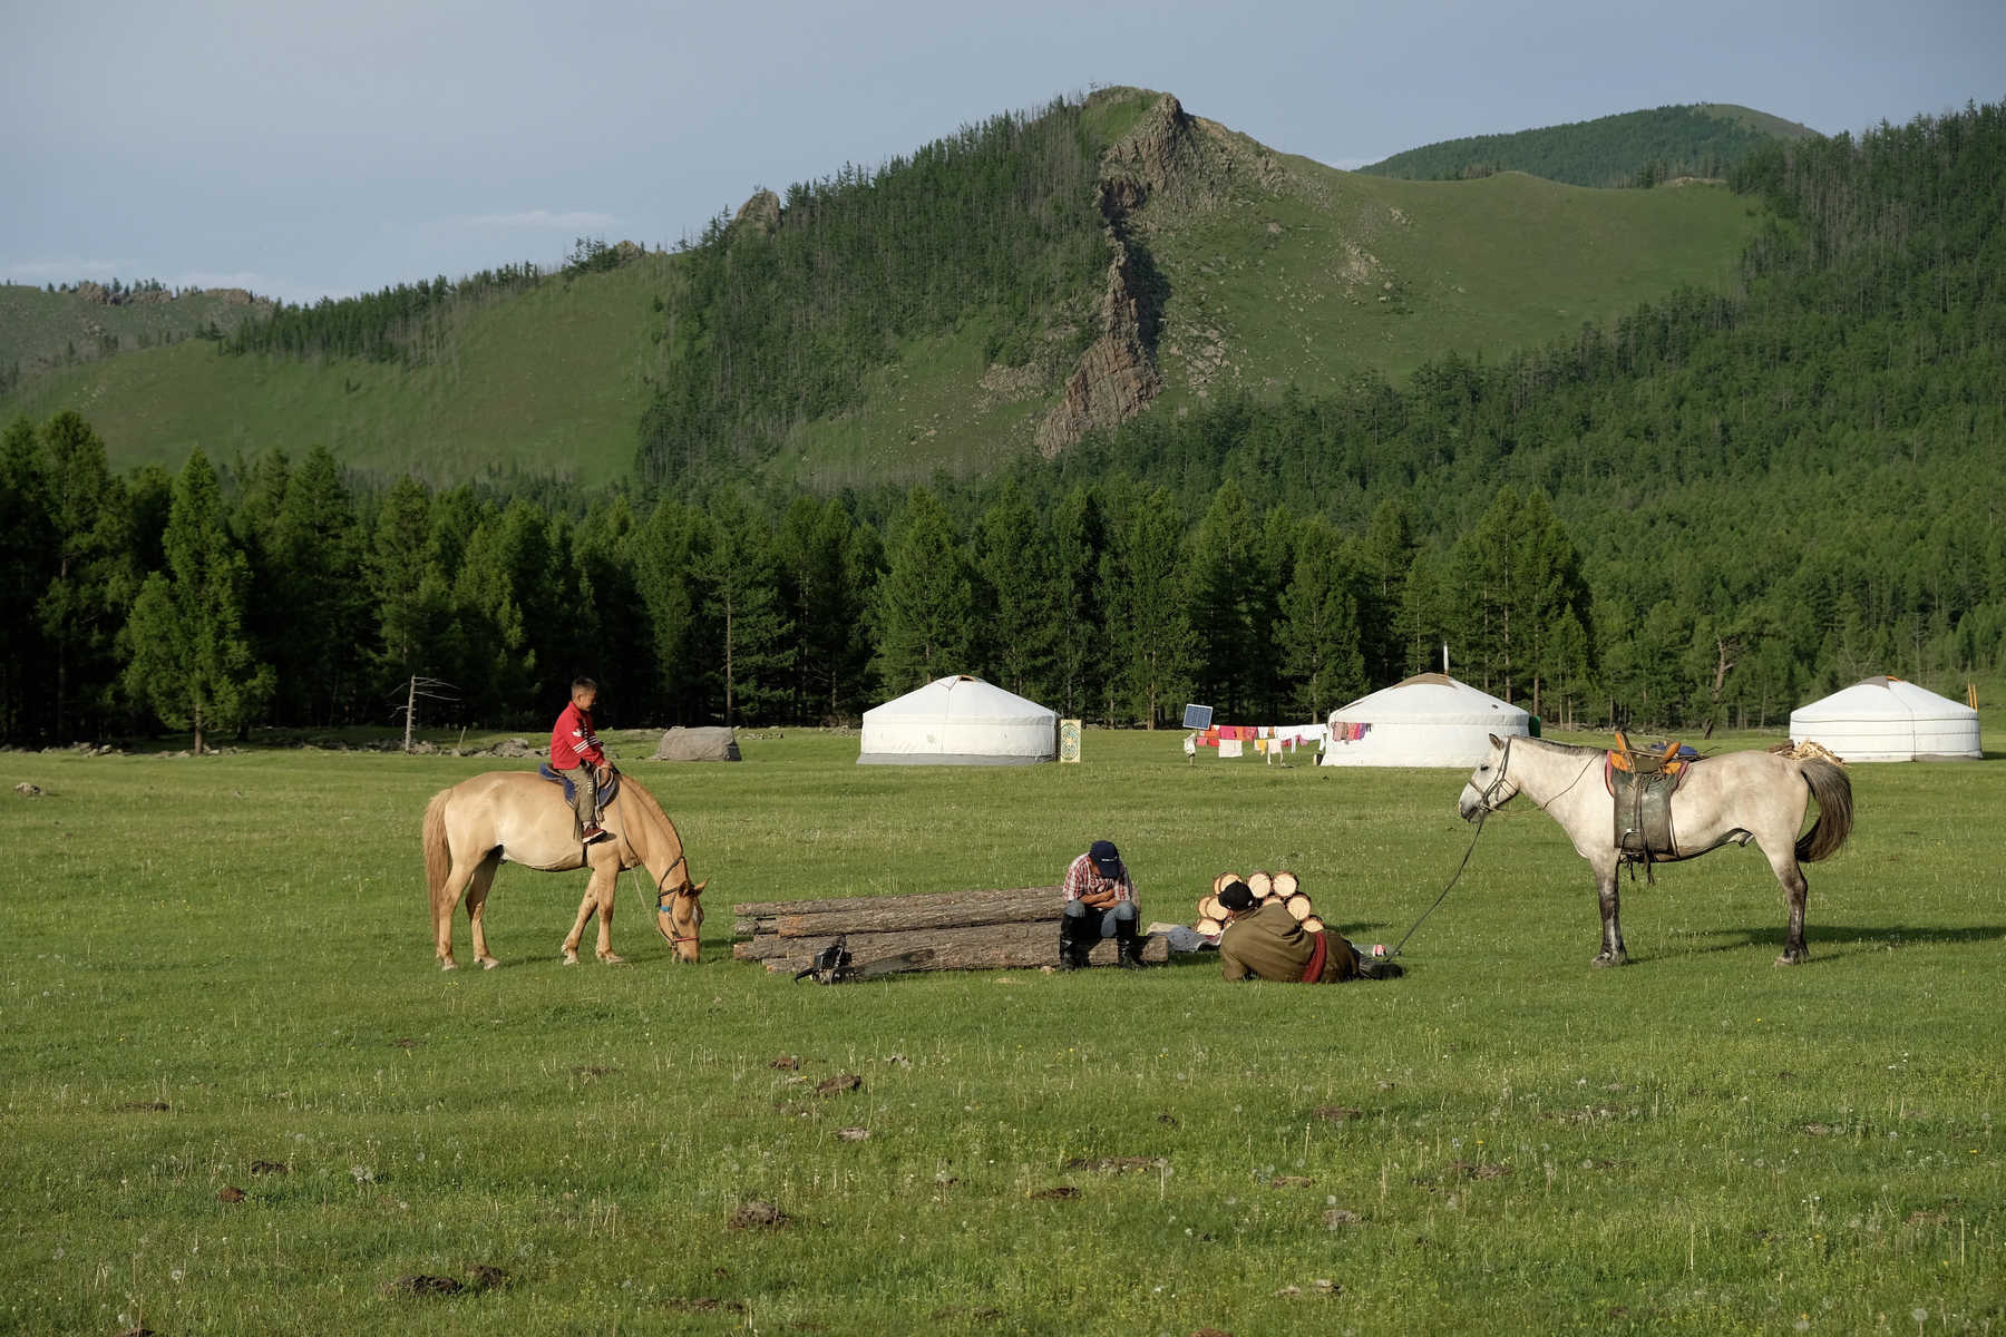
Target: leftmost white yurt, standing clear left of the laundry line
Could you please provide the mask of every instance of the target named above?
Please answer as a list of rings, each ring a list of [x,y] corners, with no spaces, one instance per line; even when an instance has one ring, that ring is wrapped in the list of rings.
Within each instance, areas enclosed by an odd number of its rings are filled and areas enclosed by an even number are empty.
[[[859,766],[1029,766],[1059,756],[1059,716],[967,674],[865,712]]]

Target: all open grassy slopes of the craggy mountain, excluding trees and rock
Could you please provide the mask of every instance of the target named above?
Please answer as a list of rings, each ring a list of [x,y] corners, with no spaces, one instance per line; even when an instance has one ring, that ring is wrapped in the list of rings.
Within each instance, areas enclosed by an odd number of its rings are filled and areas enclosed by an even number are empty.
[[[1141,90],[1095,94],[1073,108],[1083,150],[1119,142],[1157,104],[1159,94]],[[1356,373],[1398,377],[1444,351],[1496,357],[1681,285],[1723,289],[1755,229],[1749,200],[1719,186],[1611,192],[1525,174],[1390,180],[1196,124],[1242,168],[1260,170],[1186,180],[1184,194],[1202,204],[1159,190],[1135,214],[1161,315],[1155,413],[1226,389],[1278,397],[1288,385],[1330,391]],[[913,158],[943,198],[969,182],[965,142],[943,140],[945,148]],[[1025,216],[1045,227],[1077,212],[1079,182],[1093,170],[1089,156],[1085,176],[1029,174],[1051,194],[1027,198]],[[913,180],[897,184],[911,198]],[[891,188],[841,182],[847,200]],[[790,190],[782,237],[802,220],[814,227],[802,200],[820,198]],[[855,212],[869,208],[863,198]],[[865,235],[883,249],[883,231]],[[1107,263],[1101,253],[1083,265],[1073,241],[1051,245],[1061,251],[1039,253],[1051,277],[1035,303],[969,297],[939,311],[943,287],[933,283],[925,301],[935,307],[909,329],[859,329],[845,301],[776,287],[798,311],[780,311],[768,327],[816,319],[816,301],[832,307],[816,335],[822,343],[792,341],[788,357],[816,361],[820,349],[822,363],[843,365],[845,383],[814,387],[806,407],[766,409],[762,443],[736,463],[830,489],[935,469],[967,477],[1029,451],[1081,341],[1097,329]],[[225,357],[191,343],[36,377],[0,399],[0,415],[40,419],[74,407],[104,435],[116,465],[179,463],[195,445],[231,459],[321,443],[357,467],[439,481],[512,469],[604,481],[634,467],[642,413],[658,403],[670,359],[716,337],[714,325],[688,315],[718,311],[690,305],[694,263],[646,257],[467,309],[415,367]],[[871,271],[853,281],[867,287]],[[742,385],[746,373],[738,375]],[[698,423],[690,435],[706,431]]]

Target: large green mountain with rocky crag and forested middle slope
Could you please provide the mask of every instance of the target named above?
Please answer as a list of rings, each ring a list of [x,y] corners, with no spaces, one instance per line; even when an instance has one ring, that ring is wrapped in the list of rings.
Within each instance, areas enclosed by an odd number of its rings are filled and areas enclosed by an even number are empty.
[[[86,409],[116,465],[319,443],[437,481],[965,477],[1725,291],[1757,212],[1713,184],[1348,174],[1113,88],[756,192],[678,255],[283,307],[26,379],[0,413]]]

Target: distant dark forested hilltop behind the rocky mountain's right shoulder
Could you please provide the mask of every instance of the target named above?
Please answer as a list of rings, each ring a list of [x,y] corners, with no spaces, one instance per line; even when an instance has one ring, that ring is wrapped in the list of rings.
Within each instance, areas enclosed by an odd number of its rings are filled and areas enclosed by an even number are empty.
[[[1649,186],[1727,174],[1753,148],[1817,134],[1731,102],[1659,106],[1599,120],[1476,134],[1396,152],[1360,168],[1404,180],[1468,180],[1492,172],[1529,172],[1575,186]]]

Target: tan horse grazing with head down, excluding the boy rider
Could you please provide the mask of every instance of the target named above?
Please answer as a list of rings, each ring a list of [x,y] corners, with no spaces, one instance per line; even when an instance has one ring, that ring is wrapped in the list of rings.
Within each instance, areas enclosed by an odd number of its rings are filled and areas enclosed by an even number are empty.
[[[578,940],[592,912],[600,914],[600,960],[614,966],[614,886],[628,868],[654,876],[656,928],[676,948],[678,962],[698,958],[704,882],[690,880],[676,824],[632,776],[600,814],[610,840],[580,846],[572,806],[558,786],[532,772],[491,770],[439,790],[425,806],[425,884],[431,890],[431,926],[437,934],[439,970],[453,970],[453,906],[467,898],[473,920],[473,960],[493,970],[481,912],[501,860],[542,872],[592,868],[592,882],[578,906],[578,922],[564,938],[564,964],[578,964]]]

